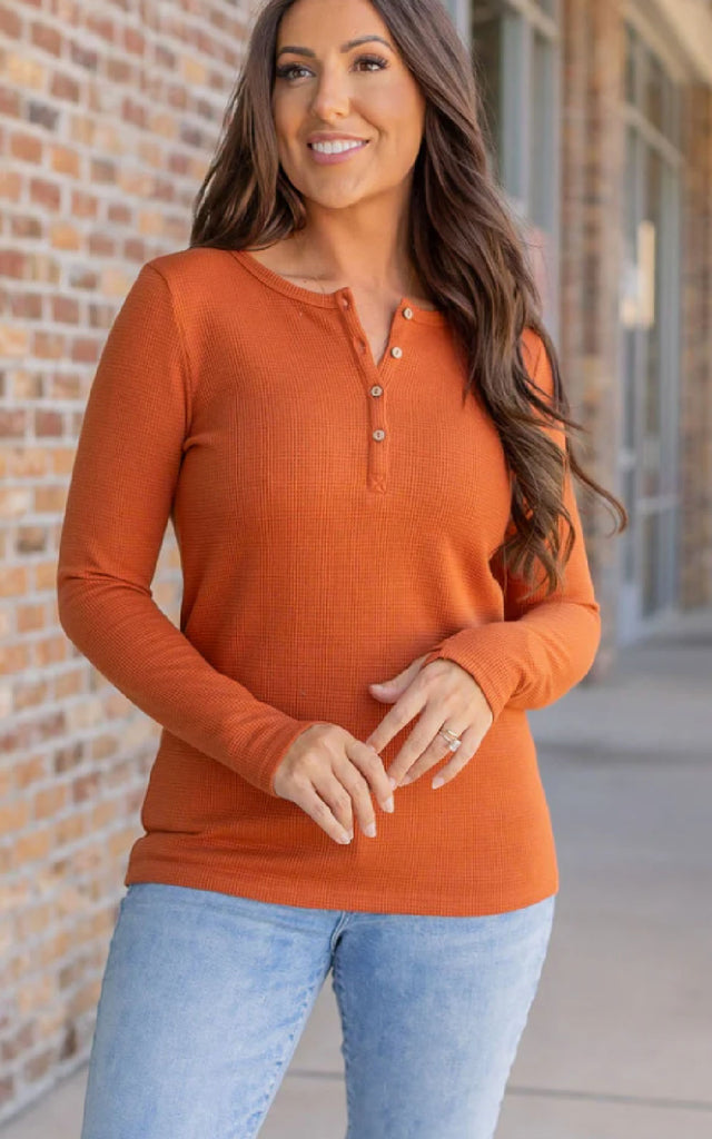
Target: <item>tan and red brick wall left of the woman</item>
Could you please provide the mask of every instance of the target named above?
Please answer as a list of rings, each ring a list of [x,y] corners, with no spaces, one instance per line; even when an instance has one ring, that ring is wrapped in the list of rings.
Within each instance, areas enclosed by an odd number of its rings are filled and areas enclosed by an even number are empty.
[[[141,264],[188,244],[249,18],[0,0],[0,1122],[88,1057],[158,732],[58,623],[75,441]],[[178,621],[170,530],[154,596]]]

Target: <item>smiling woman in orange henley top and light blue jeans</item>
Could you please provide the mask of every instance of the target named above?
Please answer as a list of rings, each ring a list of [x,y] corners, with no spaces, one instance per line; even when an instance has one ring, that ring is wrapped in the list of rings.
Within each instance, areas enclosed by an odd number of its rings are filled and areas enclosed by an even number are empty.
[[[558,888],[526,708],[599,642],[572,473],[624,511],[480,114],[435,0],[271,0],[111,329],[60,618],[163,730],[82,1139],[257,1134],[329,970],[350,1139],[494,1132]]]

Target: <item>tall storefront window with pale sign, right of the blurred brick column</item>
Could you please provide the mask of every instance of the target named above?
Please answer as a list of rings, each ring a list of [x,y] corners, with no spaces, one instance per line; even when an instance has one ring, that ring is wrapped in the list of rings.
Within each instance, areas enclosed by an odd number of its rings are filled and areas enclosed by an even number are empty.
[[[620,472],[630,526],[620,617],[630,639],[677,597],[681,159],[678,87],[631,26],[625,44]]]

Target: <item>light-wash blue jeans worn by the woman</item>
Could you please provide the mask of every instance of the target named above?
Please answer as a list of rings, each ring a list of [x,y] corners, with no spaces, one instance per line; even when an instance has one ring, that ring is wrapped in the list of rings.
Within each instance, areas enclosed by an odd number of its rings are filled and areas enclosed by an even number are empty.
[[[491,1139],[555,898],[437,917],[131,884],[81,1139],[253,1139],[329,970],[346,1139]]]

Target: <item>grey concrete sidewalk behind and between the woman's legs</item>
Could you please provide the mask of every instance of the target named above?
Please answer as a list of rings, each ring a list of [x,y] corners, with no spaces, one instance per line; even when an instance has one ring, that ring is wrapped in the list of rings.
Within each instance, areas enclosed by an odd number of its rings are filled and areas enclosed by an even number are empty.
[[[712,611],[530,722],[560,891],[497,1139],[710,1139]],[[261,1139],[343,1139],[339,1040],[328,980]],[[85,1075],[0,1139],[79,1139]]]

